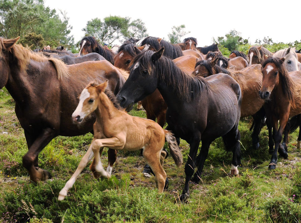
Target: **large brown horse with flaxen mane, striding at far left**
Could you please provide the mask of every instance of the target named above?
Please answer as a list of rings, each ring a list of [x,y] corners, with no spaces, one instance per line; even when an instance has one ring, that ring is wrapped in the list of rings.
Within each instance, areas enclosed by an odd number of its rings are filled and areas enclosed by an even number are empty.
[[[56,136],[76,136],[93,131],[95,114],[81,126],[72,122],[82,89],[95,78],[108,81],[115,94],[125,79],[108,61],[87,61],[65,65],[61,60],[33,53],[12,40],[0,38],[0,88],[4,86],[15,100],[15,113],[24,129],[28,152],[23,166],[30,180],[46,180],[49,172],[38,167],[40,151]],[[116,151],[108,150],[109,166]]]

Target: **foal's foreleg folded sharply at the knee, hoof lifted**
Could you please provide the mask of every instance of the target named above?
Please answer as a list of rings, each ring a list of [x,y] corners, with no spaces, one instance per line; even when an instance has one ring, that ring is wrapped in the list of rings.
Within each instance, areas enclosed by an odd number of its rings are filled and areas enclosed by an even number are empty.
[[[125,142],[125,140],[124,140]],[[96,139],[92,142],[92,151],[94,152],[94,162],[95,162],[95,171],[98,172],[101,176],[110,178],[111,174],[107,173],[103,169],[103,165],[100,159],[100,148],[110,147],[116,149],[122,149],[124,147],[124,142],[121,142],[119,138],[112,137],[108,139]]]

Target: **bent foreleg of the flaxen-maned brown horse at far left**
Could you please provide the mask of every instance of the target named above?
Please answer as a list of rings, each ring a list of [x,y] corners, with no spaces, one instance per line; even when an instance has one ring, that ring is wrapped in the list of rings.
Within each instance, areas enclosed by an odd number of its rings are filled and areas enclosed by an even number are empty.
[[[23,166],[27,169],[30,180],[34,183],[37,180],[47,180],[50,173],[44,169],[36,169],[34,164],[37,164],[37,157],[42,149],[56,136],[56,133],[50,129],[43,129],[40,135],[34,140],[28,152],[23,157]]]

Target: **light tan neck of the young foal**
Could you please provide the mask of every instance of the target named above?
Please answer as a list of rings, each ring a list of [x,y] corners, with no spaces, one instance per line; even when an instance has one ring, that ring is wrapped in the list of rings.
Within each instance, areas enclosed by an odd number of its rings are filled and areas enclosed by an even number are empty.
[[[98,100],[98,106],[95,110],[95,114],[97,121],[102,125],[105,125],[107,121],[115,117],[114,114],[118,111],[118,109],[114,107],[114,104],[105,93],[100,93]]]

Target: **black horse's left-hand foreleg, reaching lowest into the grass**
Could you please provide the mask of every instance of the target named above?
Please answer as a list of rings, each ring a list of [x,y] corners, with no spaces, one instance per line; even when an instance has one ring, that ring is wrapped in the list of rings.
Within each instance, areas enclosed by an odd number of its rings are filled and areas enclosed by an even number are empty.
[[[189,197],[189,181],[194,173],[194,167],[195,167],[194,161],[198,152],[198,146],[200,145],[200,138],[201,137],[193,138],[190,143],[189,155],[188,155],[187,162],[185,164],[185,174],[186,174],[185,185],[182,194],[180,196],[180,200],[182,202],[187,201]]]

